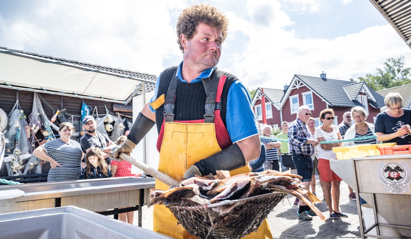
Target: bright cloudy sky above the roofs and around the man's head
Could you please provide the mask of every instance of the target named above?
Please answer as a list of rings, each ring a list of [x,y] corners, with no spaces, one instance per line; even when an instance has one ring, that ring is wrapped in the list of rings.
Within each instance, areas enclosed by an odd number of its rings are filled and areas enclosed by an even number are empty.
[[[158,75],[177,65],[178,14],[195,1],[0,0],[0,47]],[[294,74],[348,80],[411,49],[368,0],[210,1],[230,20],[220,69],[249,88]]]

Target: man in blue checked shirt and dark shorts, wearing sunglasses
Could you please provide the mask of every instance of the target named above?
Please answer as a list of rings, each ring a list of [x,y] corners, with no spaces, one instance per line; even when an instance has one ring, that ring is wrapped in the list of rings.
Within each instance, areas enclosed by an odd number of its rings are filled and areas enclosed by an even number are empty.
[[[311,156],[314,154],[314,146],[319,142],[312,138],[308,130],[307,122],[311,117],[311,110],[308,106],[298,108],[297,119],[290,124],[288,139],[290,141],[290,151],[298,175],[302,176],[302,184],[309,190],[312,178],[313,163]],[[297,215],[302,220],[312,221],[314,211],[307,204],[300,200],[300,207]]]

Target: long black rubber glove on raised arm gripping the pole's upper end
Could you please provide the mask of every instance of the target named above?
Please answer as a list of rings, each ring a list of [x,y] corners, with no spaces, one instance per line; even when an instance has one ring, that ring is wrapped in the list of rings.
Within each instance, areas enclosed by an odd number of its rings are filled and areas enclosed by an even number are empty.
[[[154,125],[154,121],[145,117],[140,112],[139,115],[137,115],[136,121],[134,122],[129,135],[127,136],[127,140],[111,149],[110,158],[117,161],[122,161],[122,159],[118,158],[118,154],[123,152],[129,155]]]

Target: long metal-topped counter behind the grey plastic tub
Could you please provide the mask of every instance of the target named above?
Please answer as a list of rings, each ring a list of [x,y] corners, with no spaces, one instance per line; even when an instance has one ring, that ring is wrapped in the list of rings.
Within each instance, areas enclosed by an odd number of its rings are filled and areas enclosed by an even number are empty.
[[[148,202],[149,188],[155,186],[152,177],[117,177],[0,186],[0,194],[18,189],[24,195],[0,200],[0,214],[42,208],[75,206],[103,215],[136,211]],[[134,206],[128,209],[120,207]],[[115,209],[105,211],[109,209]],[[139,210],[141,225],[141,210]]]

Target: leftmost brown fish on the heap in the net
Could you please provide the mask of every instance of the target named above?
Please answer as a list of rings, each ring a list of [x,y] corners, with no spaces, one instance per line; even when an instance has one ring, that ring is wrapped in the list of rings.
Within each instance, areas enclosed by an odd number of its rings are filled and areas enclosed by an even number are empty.
[[[198,185],[190,184],[171,188],[157,197],[154,197],[152,193],[150,195],[152,195],[152,199],[150,199],[150,202],[147,204],[148,207],[154,204],[178,206],[181,204],[182,198],[191,198],[194,195],[200,195],[200,189]]]

